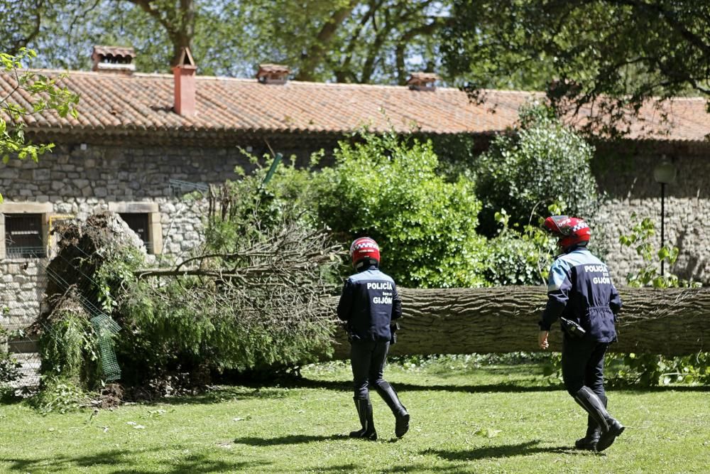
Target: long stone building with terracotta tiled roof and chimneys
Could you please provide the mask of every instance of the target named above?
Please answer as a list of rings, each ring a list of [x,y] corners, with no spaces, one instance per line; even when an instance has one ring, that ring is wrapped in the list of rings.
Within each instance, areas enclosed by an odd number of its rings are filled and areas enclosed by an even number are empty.
[[[242,150],[306,158],[331,150],[361,126],[372,131],[471,134],[484,139],[515,124],[532,95],[487,91],[474,103],[457,89],[436,87],[434,75],[413,74],[405,87],[323,84],[288,80],[288,68],[262,65],[256,79],[195,74],[189,53],[173,75],[134,72],[130,48],[94,48],[94,70],[62,81],[81,95],[78,119],[53,112],[26,118],[33,141],[53,142],[53,153],[33,161],[0,163],[0,306],[4,326],[21,327],[38,314],[49,230],[94,210],[119,212],[149,253],[179,255],[201,239],[200,200],[183,193],[236,178],[249,168]],[[58,75],[60,71],[41,71]],[[15,86],[0,72],[0,92]],[[28,97],[12,96],[21,104]],[[597,146],[596,175],[608,200],[600,210],[607,257],[616,278],[638,266],[633,249],[616,244],[630,215],[660,217],[654,167],[672,161],[678,176],[667,185],[665,239],[681,248],[672,269],[710,279],[710,115],[704,100],[676,99],[641,111],[619,144]],[[665,115],[663,114],[663,115]]]

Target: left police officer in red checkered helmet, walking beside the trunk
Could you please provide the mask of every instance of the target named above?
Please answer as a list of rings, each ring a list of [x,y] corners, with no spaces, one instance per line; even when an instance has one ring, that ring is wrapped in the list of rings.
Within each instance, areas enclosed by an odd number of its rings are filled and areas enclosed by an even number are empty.
[[[395,435],[400,438],[409,429],[409,413],[382,372],[393,339],[393,321],[402,316],[402,301],[394,280],[378,269],[377,242],[370,237],[356,239],[350,246],[350,257],[356,274],[345,281],[337,309],[351,343],[354,401],[361,424],[350,437],[377,439],[368,390],[375,387],[395,416]]]

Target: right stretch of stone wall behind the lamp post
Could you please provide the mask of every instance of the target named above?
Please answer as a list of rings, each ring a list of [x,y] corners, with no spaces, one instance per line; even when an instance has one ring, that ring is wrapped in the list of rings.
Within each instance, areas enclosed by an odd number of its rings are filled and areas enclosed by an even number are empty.
[[[606,198],[596,218],[596,233],[608,252],[606,260],[619,284],[630,271],[643,266],[631,247],[618,236],[644,217],[655,222],[653,244],[660,247],[661,185],[653,169],[664,158],[677,169],[676,181],[665,186],[665,244],[679,247],[677,262],[665,271],[684,279],[710,283],[710,144],[623,144],[597,146],[594,164],[599,188]],[[635,213],[638,217],[633,219]]]

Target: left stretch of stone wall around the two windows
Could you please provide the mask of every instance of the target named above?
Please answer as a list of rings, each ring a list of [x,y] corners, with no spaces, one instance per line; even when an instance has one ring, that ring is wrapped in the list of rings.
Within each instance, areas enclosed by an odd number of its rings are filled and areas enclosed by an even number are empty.
[[[157,203],[163,235],[155,253],[179,257],[201,242],[206,201],[182,200],[187,190],[171,188],[170,180],[223,183],[236,178],[234,167],[238,165],[247,171],[253,167],[236,147],[58,146],[37,163],[11,160],[0,165],[5,199],[0,208],[48,203],[45,216],[49,223],[59,216],[85,220],[116,203]],[[4,327],[20,328],[38,316],[47,262],[0,259],[0,308],[7,308],[0,321]]]

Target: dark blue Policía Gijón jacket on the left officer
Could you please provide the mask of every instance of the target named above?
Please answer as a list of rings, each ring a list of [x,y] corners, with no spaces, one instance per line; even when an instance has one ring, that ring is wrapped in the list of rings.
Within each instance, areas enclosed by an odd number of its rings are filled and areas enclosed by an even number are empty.
[[[352,341],[390,340],[390,323],[402,316],[402,300],[392,277],[371,265],[345,281],[337,311]]]

